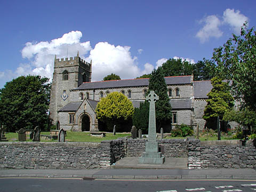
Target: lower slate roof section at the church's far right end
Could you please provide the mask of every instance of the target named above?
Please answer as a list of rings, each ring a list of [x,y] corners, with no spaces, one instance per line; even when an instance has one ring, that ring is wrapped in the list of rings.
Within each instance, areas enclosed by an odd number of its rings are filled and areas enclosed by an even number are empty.
[[[211,81],[195,81],[194,97],[195,99],[208,98],[207,93],[212,90]]]

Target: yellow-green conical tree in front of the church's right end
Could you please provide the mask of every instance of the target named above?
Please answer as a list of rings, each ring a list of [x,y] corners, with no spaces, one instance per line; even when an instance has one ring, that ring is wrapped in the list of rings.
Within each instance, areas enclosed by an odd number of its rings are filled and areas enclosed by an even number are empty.
[[[234,107],[234,98],[230,93],[230,87],[227,82],[223,82],[219,77],[211,79],[212,90],[207,94],[207,105],[204,109],[203,118],[206,120],[206,126],[209,129],[216,129],[217,117],[222,120],[223,115]],[[222,124],[222,129],[224,122]]]

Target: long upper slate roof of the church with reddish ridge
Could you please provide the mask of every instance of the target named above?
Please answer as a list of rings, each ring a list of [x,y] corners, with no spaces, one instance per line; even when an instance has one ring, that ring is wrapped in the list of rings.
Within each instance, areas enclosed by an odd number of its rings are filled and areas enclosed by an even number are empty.
[[[167,85],[190,84],[191,76],[165,77]],[[114,81],[87,82],[81,84],[74,90],[107,89],[115,87],[148,86],[149,78],[124,79]]]

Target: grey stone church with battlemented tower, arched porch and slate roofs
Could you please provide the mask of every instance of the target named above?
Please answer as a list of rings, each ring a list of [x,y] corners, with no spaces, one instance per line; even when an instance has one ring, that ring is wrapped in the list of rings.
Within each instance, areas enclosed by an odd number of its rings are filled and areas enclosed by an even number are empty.
[[[91,82],[92,61],[79,57],[54,59],[50,118],[64,130],[98,132],[97,103],[111,92],[121,92],[139,107],[145,101],[149,79]],[[165,77],[172,106],[170,127],[187,124],[204,129],[202,118],[211,81],[194,81],[191,76]]]

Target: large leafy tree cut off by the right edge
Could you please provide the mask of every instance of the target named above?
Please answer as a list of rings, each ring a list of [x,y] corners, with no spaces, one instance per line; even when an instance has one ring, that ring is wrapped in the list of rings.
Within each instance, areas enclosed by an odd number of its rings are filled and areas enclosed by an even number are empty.
[[[256,111],[256,31],[241,28],[241,36],[232,38],[215,48],[212,60],[222,78],[232,80],[231,91],[242,107],[249,106]],[[215,71],[213,71],[215,73]]]

